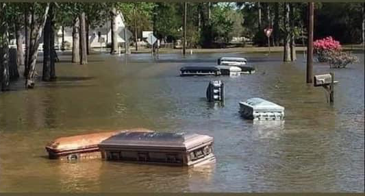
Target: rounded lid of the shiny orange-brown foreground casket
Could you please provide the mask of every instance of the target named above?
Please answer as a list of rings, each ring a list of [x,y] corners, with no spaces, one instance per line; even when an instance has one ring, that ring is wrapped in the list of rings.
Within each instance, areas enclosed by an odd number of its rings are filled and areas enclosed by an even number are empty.
[[[66,136],[53,140],[46,146],[47,150],[54,152],[69,151],[76,149],[87,149],[91,147],[97,147],[101,141],[119,134],[121,132],[153,132],[144,128],[136,128],[130,130],[117,130],[112,132],[100,132],[92,134],[82,134],[77,136]]]

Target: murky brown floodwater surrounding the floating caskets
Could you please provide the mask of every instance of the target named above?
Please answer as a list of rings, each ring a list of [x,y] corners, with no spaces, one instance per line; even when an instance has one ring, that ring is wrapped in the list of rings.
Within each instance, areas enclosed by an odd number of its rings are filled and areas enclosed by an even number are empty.
[[[181,66],[244,56],[257,69],[240,77],[179,77]],[[305,84],[305,62],[280,53],[92,54],[89,64],[60,53],[57,82],[24,81],[0,93],[1,192],[363,192],[364,56],[334,71],[335,103]],[[41,75],[41,68],[38,68]],[[212,79],[225,83],[224,105],[205,100]],[[239,101],[262,97],[285,107],[285,121],[242,119]],[[101,160],[47,159],[53,138],[145,127],[214,136],[216,163],[192,169]]]

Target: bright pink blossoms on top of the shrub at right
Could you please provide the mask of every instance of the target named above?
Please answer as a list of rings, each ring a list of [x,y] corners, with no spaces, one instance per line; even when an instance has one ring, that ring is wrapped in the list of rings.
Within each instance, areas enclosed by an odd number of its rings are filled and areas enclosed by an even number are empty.
[[[342,49],[340,42],[333,40],[331,36],[314,41],[313,47],[319,62],[327,62],[326,54],[329,51],[340,51]]]

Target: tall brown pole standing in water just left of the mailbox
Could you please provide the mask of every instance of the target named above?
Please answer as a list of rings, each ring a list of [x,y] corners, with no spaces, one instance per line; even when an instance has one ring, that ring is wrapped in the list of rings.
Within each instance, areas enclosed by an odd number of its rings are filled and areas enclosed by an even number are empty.
[[[313,82],[314,3],[308,3],[307,83]]]

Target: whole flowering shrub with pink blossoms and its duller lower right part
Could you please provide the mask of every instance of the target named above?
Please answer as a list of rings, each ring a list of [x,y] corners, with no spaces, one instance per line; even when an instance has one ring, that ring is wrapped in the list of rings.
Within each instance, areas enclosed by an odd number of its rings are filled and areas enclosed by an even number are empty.
[[[328,62],[331,68],[344,68],[348,64],[357,62],[357,57],[343,52],[340,42],[331,36],[313,42],[314,52],[318,62]]]

